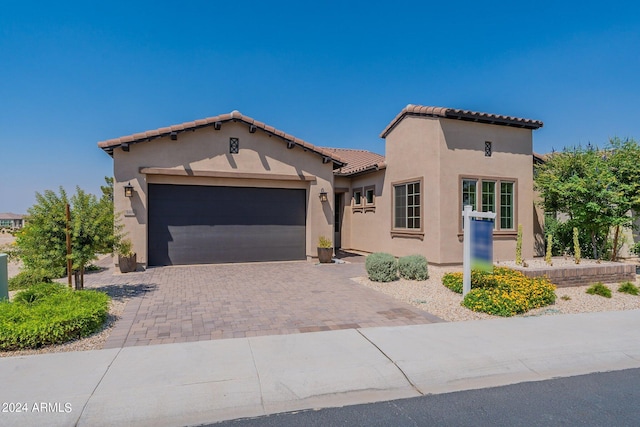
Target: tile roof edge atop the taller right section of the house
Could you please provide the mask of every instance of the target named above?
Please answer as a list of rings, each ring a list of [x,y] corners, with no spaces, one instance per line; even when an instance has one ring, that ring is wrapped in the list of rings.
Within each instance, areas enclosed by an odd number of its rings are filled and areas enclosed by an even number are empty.
[[[525,129],[538,129],[543,126],[539,120],[522,119],[519,117],[501,116],[498,114],[479,113],[477,111],[457,110],[445,107],[427,107],[423,105],[409,104],[400,111],[395,119],[387,125],[380,134],[380,138],[386,138],[389,132],[407,116],[442,117],[445,119],[465,120],[478,123],[486,123],[501,126],[513,126]]]

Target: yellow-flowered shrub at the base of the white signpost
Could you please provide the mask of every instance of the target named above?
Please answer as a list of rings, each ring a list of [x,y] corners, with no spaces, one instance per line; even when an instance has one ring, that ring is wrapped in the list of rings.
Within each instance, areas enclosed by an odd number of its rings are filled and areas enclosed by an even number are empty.
[[[448,273],[442,284],[462,293],[462,273]],[[471,291],[462,305],[498,316],[513,316],[556,301],[555,286],[546,277],[528,278],[509,268],[495,267],[493,273],[471,271]]]

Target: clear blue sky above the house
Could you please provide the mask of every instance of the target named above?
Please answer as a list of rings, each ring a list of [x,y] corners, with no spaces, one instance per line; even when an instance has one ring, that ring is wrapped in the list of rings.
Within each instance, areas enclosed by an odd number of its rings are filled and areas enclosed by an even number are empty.
[[[0,6],[0,212],[99,193],[98,141],[236,109],[382,154],[409,103],[542,120],[541,153],[640,139],[637,2],[93,3]]]

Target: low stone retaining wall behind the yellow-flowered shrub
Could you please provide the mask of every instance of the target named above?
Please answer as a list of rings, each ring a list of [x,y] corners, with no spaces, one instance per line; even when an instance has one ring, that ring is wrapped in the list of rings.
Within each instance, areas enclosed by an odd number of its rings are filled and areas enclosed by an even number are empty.
[[[619,262],[574,265],[549,268],[511,267],[527,277],[547,276],[559,288],[592,285],[597,282],[621,283],[636,281],[636,266]]]

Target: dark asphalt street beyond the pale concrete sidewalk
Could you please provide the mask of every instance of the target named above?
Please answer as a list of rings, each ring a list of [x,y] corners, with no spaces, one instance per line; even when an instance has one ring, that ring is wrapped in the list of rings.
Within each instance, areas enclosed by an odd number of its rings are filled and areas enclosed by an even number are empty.
[[[628,369],[211,426],[638,426],[638,384]]]

